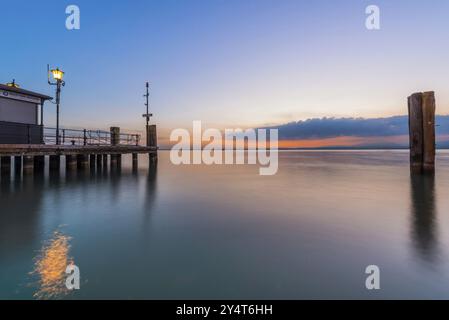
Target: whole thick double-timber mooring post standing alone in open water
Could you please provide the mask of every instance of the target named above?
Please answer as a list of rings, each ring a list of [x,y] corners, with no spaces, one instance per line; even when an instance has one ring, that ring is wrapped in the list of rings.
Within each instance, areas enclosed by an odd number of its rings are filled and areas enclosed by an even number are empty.
[[[435,94],[414,93],[408,98],[410,166],[413,172],[435,169]]]

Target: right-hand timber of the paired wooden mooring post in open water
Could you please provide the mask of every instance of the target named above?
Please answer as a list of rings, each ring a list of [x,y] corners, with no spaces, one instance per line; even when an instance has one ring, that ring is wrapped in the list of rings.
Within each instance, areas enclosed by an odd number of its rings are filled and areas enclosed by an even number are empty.
[[[424,92],[423,108],[423,169],[435,169],[435,93]]]

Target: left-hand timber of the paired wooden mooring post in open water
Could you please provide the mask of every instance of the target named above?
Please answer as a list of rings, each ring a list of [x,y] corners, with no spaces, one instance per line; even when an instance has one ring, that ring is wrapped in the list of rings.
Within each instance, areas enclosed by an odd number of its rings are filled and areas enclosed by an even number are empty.
[[[423,165],[423,112],[422,93],[414,93],[408,98],[410,164],[421,168]]]

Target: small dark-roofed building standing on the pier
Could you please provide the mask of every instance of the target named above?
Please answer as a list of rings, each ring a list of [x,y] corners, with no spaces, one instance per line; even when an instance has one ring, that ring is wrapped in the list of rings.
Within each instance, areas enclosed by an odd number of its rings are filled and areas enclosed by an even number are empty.
[[[0,144],[43,143],[43,106],[51,99],[15,82],[0,84]]]

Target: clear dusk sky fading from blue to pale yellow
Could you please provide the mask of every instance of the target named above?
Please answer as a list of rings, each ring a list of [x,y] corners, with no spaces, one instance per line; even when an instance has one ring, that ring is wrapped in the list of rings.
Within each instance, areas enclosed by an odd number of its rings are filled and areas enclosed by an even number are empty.
[[[435,91],[437,113],[449,114],[446,0],[0,3],[0,82],[53,95],[46,65],[63,69],[67,127],[143,131],[146,81],[162,141],[193,120],[247,128],[405,115],[416,91]],[[70,4],[80,7],[80,30],[65,28]],[[365,28],[370,4],[381,30]]]

